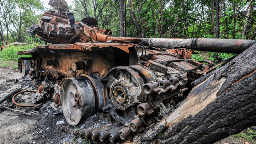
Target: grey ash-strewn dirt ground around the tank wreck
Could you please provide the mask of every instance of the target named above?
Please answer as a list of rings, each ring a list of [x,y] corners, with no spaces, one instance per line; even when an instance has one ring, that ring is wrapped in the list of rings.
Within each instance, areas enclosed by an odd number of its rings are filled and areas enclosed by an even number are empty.
[[[17,80],[18,81],[17,81]],[[16,81],[16,82],[15,82]],[[17,70],[11,68],[0,67],[0,99],[10,92],[22,87],[23,90],[37,90],[41,81],[31,80],[28,76],[23,76]],[[22,91],[23,91],[22,90]],[[30,99],[31,93],[20,95],[18,103],[32,105]],[[19,97],[19,96],[17,96]],[[12,107],[11,98],[7,99],[3,106]],[[91,143],[89,140],[73,138],[72,134],[61,132],[60,128],[65,126],[72,130],[76,128],[95,129],[109,124],[106,120],[100,119],[100,114],[86,119],[78,126],[70,126],[64,118],[62,110],[55,110],[49,106],[50,102],[45,102],[40,107],[20,107],[14,105],[12,108],[33,116],[27,116],[20,112],[14,112],[0,108],[0,144],[73,144],[73,143]],[[106,116],[105,116],[106,117]],[[234,136],[225,138],[217,144],[244,144],[244,140],[240,140]]]

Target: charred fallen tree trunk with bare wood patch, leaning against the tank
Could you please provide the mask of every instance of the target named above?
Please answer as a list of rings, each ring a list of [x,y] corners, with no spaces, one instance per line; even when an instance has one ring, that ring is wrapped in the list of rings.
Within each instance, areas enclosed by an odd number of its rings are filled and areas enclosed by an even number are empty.
[[[186,100],[137,143],[214,143],[256,125],[256,44],[198,79]],[[201,80],[201,81],[200,81]]]

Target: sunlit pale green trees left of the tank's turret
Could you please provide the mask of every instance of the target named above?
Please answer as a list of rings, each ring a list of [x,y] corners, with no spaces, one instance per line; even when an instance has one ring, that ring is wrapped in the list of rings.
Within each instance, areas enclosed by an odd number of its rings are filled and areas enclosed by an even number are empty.
[[[40,0],[0,1],[0,44],[11,42],[42,43],[30,38],[26,30],[38,23],[44,7]],[[32,40],[32,41],[31,41]]]

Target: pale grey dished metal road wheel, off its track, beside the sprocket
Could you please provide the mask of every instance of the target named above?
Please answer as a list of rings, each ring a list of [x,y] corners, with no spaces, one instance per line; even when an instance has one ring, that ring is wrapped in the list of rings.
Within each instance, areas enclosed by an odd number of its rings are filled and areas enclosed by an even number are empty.
[[[78,76],[68,78],[63,82],[62,107],[69,124],[76,126],[102,107],[102,102],[99,102],[103,99],[102,84],[97,79],[100,78]],[[95,82],[98,83],[95,84]]]

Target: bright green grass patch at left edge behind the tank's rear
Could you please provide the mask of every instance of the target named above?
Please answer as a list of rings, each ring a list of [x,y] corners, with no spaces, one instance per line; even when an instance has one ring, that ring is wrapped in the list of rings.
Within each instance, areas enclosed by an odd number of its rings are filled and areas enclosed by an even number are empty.
[[[11,45],[4,48],[0,52],[0,67],[12,67],[18,69],[17,61],[18,57],[31,57],[31,55],[17,55],[18,51],[28,50],[35,47],[35,45]]]

